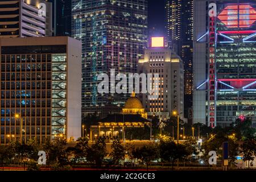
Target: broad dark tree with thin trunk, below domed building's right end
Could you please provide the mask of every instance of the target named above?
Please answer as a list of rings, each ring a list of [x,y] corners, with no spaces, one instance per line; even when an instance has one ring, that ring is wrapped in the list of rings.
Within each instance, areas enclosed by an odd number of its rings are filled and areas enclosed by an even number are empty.
[[[158,159],[159,152],[158,147],[154,143],[146,144],[142,148],[135,148],[132,151],[132,155],[146,163],[147,169],[150,166],[152,160]]]

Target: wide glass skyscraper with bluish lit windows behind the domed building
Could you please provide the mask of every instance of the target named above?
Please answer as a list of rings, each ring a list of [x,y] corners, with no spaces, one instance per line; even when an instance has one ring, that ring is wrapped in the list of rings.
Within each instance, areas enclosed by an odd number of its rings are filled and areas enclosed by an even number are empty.
[[[147,0],[72,0],[72,36],[82,41],[83,116],[119,113],[130,94],[98,94],[97,75],[137,72],[147,46]]]

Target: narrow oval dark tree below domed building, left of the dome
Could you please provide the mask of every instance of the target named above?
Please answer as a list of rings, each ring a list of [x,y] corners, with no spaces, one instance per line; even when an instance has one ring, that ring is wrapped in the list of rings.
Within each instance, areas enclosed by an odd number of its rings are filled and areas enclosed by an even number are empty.
[[[121,160],[125,159],[125,147],[122,146],[120,140],[114,140],[112,143],[113,151],[110,156],[112,156],[112,162],[114,165],[118,165]]]

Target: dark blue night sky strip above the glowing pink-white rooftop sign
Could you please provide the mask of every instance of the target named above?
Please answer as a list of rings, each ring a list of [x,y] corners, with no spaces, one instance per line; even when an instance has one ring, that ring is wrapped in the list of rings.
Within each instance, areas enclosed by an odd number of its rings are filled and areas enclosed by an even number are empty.
[[[165,13],[164,0],[148,0],[148,30],[149,36],[163,36],[165,35]],[[152,31],[152,28],[155,31]]]

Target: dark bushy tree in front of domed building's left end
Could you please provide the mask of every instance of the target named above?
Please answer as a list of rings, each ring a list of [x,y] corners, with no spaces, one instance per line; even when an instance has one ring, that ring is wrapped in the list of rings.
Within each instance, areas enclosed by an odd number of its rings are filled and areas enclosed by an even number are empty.
[[[106,154],[105,139],[98,138],[96,143],[86,149],[86,160],[90,163],[96,164],[97,167],[101,167]]]

